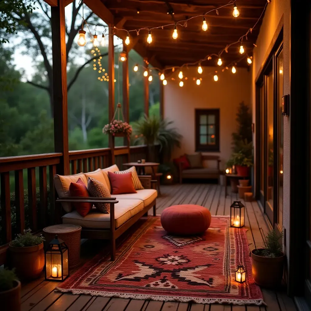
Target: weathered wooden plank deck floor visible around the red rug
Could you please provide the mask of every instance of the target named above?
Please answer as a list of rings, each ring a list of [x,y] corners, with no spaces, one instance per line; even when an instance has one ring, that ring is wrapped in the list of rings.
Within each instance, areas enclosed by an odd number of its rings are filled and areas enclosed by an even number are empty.
[[[230,204],[237,199],[235,193],[225,197],[224,186],[216,184],[182,184],[161,186],[161,197],[157,199],[157,213],[174,204],[199,204],[207,207],[212,215],[230,215]],[[245,203],[245,225],[249,228],[249,248],[263,245],[262,231],[266,234],[268,226],[256,202]],[[151,213],[151,211],[150,211]],[[90,242],[92,243],[92,242]],[[82,245],[81,264],[94,256],[99,242]],[[93,246],[93,247],[92,247]],[[100,245],[101,246],[101,245]],[[105,243],[102,244],[105,247]],[[85,250],[87,248],[87,251]],[[84,253],[84,255],[83,255]],[[77,269],[77,268],[76,268]],[[72,271],[74,272],[74,271]],[[267,306],[236,306],[220,304],[193,304],[181,302],[160,302],[90,295],[72,295],[54,292],[58,283],[46,282],[43,277],[22,286],[22,311],[292,311],[296,310],[293,300],[285,292],[262,290]]]

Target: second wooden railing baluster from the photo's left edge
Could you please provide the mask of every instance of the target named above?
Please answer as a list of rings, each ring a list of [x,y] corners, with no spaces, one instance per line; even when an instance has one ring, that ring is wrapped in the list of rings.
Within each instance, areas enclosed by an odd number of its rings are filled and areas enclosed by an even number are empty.
[[[15,206],[16,229],[18,233],[22,233],[25,229],[24,180],[22,169],[15,171]]]

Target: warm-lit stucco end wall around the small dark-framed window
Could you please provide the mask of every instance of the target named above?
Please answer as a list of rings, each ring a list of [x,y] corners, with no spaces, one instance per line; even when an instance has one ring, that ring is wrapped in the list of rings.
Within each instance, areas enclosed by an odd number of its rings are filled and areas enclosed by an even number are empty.
[[[197,67],[183,69],[184,77],[188,77],[187,80],[183,79],[183,87],[179,86],[178,70],[167,79],[168,83],[164,86],[164,116],[173,120],[174,126],[183,135],[181,148],[174,151],[173,157],[195,152],[195,109],[219,108],[220,152],[210,154],[219,155],[221,167],[225,167],[231,154],[231,133],[237,127],[237,107],[241,101],[251,105],[251,71],[248,68],[236,69],[237,72],[233,74],[231,70],[219,72],[219,67],[203,67],[199,86],[193,81],[193,77],[199,76]],[[215,70],[218,70],[217,82],[213,79]]]

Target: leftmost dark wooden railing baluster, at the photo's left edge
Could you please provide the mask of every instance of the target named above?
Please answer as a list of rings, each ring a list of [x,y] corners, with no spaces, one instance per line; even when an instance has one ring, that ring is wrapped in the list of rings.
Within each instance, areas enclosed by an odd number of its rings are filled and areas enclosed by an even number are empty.
[[[2,242],[8,243],[12,239],[11,227],[11,200],[10,200],[10,174],[9,172],[1,173],[1,226]]]

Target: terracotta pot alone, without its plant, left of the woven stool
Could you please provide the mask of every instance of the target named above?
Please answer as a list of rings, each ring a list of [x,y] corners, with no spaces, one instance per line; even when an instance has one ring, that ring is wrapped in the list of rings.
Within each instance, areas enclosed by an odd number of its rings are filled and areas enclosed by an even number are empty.
[[[14,247],[9,245],[10,265],[16,268],[16,274],[21,280],[35,279],[44,268],[43,243],[29,247]]]

